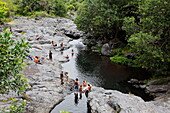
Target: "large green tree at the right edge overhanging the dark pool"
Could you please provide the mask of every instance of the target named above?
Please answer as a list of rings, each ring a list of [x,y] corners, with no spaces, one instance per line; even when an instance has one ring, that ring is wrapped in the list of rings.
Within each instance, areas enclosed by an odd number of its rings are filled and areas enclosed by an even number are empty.
[[[123,29],[132,51],[139,54],[136,62],[140,67],[161,72],[169,70],[169,4],[169,0],[138,0],[135,13],[140,21],[136,22],[135,17],[124,19]]]

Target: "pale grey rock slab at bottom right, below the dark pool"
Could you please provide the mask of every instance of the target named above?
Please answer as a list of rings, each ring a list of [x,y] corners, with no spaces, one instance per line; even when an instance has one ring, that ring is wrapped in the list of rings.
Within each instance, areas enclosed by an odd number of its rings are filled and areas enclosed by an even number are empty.
[[[116,90],[93,87],[88,103],[92,113],[169,113],[170,109]]]

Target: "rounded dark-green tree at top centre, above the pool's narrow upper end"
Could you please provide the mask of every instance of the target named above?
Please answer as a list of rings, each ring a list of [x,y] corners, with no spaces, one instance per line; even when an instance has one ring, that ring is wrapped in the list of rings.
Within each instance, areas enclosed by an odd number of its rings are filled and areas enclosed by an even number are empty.
[[[131,0],[86,0],[78,10],[75,23],[79,30],[97,38],[124,39],[122,30],[124,9]]]

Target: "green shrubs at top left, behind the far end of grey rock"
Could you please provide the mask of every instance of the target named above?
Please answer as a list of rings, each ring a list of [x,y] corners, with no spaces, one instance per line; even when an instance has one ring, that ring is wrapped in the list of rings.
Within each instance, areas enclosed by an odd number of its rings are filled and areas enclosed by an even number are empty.
[[[62,0],[14,0],[17,13],[24,16],[56,15],[66,16],[67,10]],[[46,14],[47,13],[47,14]]]

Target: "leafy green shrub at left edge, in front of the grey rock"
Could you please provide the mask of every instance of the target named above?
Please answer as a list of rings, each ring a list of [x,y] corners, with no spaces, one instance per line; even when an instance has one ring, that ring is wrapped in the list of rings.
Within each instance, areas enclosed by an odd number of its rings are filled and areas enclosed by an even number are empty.
[[[0,93],[12,90],[20,94],[29,86],[27,79],[19,72],[23,69],[23,60],[30,46],[24,40],[11,39],[10,35],[7,30],[0,33]]]

